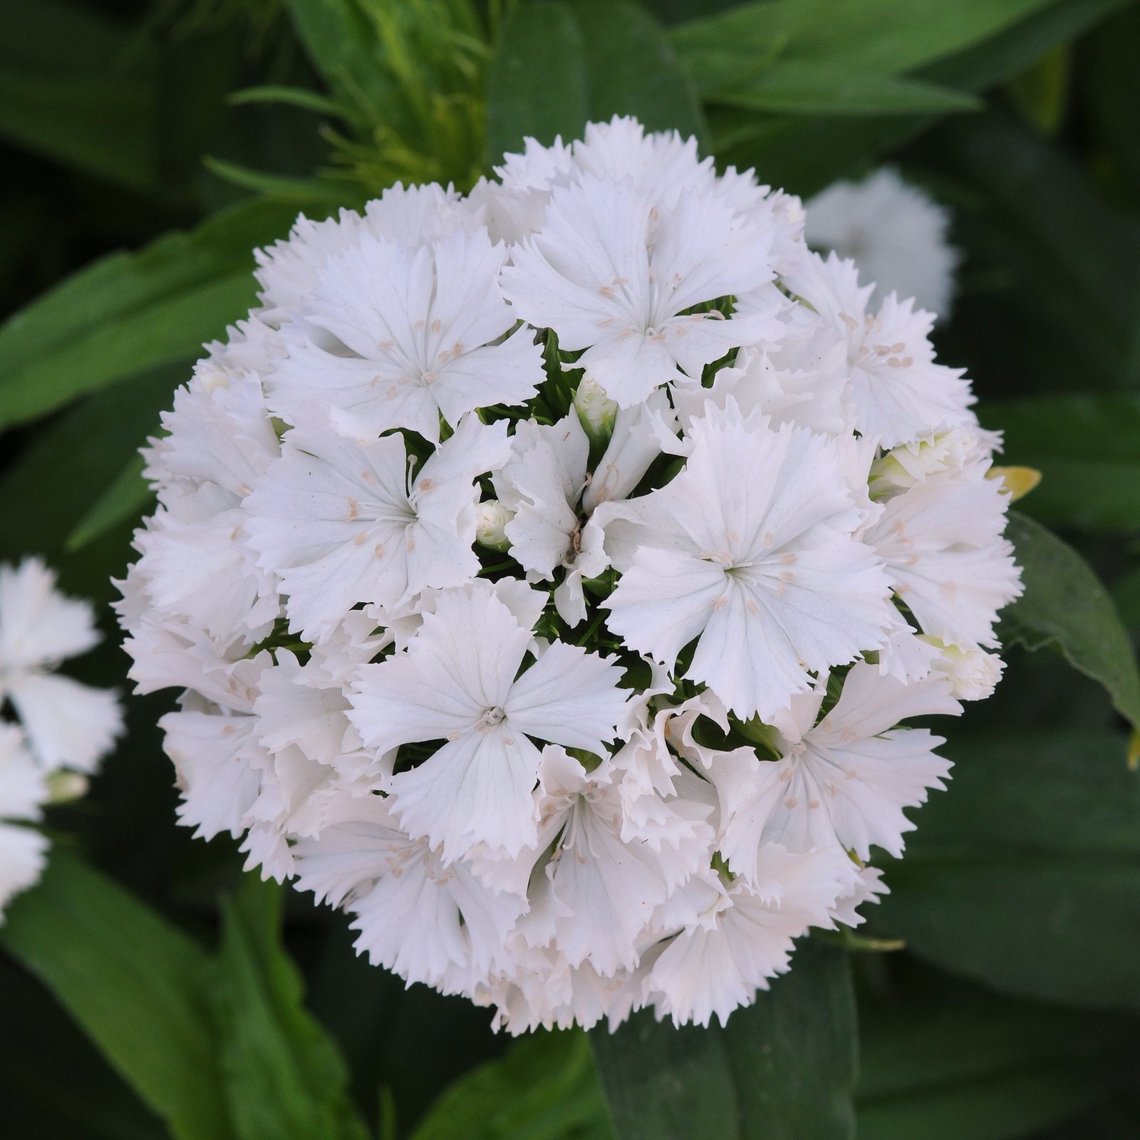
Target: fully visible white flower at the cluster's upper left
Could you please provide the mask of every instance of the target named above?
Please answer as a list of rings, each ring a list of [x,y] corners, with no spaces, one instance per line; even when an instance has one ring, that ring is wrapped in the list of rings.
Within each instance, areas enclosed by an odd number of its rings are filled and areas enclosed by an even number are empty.
[[[435,442],[441,416],[454,426],[528,399],[542,352],[528,328],[506,335],[518,315],[499,292],[505,256],[486,231],[420,246],[361,235],[319,271],[270,407],[298,425],[318,407],[345,434],[409,427]]]

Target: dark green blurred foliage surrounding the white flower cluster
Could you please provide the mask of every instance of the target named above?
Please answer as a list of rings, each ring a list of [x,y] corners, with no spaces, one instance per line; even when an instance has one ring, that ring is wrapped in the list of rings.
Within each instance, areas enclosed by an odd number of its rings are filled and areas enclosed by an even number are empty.
[[[891,895],[726,1029],[512,1043],[406,991],[341,917],[174,825],[160,694],[55,809],[0,934],[0,1134],[1140,1137],[1140,6],[0,0],[0,559],[41,552],[99,603],[148,508],[136,449],[254,303],[255,245],[614,113],[805,197],[889,158],[948,204],[942,359],[1044,475],[1009,670],[953,726]],[[104,617],[82,675],[125,689]]]

